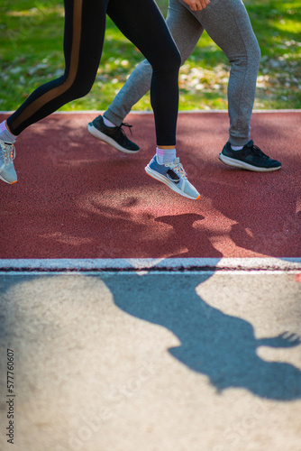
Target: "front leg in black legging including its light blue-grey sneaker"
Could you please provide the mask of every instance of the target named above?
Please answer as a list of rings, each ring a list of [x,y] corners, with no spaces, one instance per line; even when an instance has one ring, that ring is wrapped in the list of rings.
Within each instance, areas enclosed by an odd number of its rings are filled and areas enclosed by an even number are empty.
[[[176,158],[176,125],[178,118],[178,69],[180,55],[160,10],[152,0],[111,0],[108,14],[123,34],[136,45],[152,67],[150,104],[152,106],[157,145],[171,161],[159,164],[157,155],[145,168],[154,179],[187,198],[199,198],[199,193],[187,180]],[[130,6],[130,7],[129,7]],[[174,158],[175,157],[175,158]],[[160,168],[160,170],[158,170]]]

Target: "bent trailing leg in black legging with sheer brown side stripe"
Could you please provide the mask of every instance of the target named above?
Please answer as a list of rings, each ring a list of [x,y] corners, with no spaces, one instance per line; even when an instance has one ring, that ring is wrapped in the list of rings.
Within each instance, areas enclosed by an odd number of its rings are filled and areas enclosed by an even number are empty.
[[[20,134],[60,106],[89,92],[103,48],[107,2],[65,0],[65,73],[38,87],[7,119],[12,133]]]

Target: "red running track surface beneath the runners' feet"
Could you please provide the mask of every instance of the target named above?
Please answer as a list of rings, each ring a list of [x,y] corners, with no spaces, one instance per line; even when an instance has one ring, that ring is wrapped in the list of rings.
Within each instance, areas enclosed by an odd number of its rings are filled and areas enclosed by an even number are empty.
[[[19,138],[18,183],[0,186],[0,258],[301,256],[301,112],[253,114],[252,139],[283,164],[270,173],[218,160],[228,115],[179,115],[178,156],[197,201],[145,173],[152,115],[127,118],[136,155],[87,133],[94,117],[51,115]]]

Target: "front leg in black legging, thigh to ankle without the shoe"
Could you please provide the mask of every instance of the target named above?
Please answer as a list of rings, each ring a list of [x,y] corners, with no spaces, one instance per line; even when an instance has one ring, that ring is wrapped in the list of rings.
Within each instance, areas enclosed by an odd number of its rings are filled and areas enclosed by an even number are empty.
[[[157,143],[174,145],[178,118],[180,55],[153,0],[110,0],[107,10],[117,27],[150,61],[150,103]]]

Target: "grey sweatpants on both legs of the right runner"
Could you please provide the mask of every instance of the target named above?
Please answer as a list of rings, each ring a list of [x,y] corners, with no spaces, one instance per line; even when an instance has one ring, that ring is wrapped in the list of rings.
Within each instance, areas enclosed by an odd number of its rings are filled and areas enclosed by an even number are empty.
[[[242,0],[211,0],[205,10],[192,12],[181,0],[169,0],[169,30],[178,45],[182,64],[194,51],[205,30],[231,63],[228,84],[230,138],[233,145],[250,140],[251,112],[260,66],[260,47]],[[151,66],[143,60],[105,111],[105,117],[120,125],[150,89]]]

